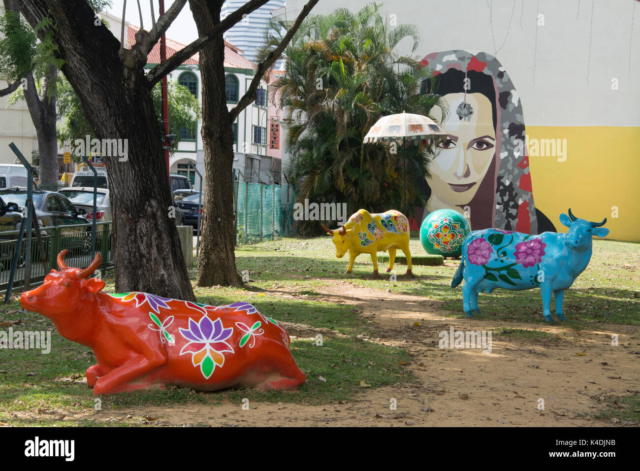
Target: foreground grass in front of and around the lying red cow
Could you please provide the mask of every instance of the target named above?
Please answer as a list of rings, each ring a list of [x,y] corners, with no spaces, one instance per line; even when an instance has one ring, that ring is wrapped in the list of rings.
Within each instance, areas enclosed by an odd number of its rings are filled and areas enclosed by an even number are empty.
[[[91,411],[95,404],[92,390],[86,384],[60,381],[57,379],[60,374],[54,373],[57,367],[64,369],[66,374],[84,374],[84,363],[72,360],[72,356],[81,349],[76,347],[74,350],[76,352],[68,351],[67,355],[61,355],[54,363],[56,366],[51,365],[38,379],[29,381],[29,384],[24,383],[24,374],[18,368],[10,372],[6,383],[0,388],[0,418],[12,420],[8,417],[12,411],[35,412],[35,409]],[[317,346],[312,340],[292,340],[291,352],[298,367],[307,375],[307,383],[297,390],[260,392],[250,388],[237,388],[195,392],[189,388],[169,386],[165,389],[152,388],[102,396],[102,410],[194,403],[215,406],[225,399],[237,402],[240,406],[245,397],[250,401],[327,404],[353,399],[364,391],[360,381],[376,388],[412,377],[401,367],[401,363],[410,359],[406,352],[358,338],[325,338],[322,346]],[[61,364],[65,362],[67,367],[63,368]],[[56,417],[40,420],[52,423]],[[77,425],[78,422],[67,420],[63,425]]]

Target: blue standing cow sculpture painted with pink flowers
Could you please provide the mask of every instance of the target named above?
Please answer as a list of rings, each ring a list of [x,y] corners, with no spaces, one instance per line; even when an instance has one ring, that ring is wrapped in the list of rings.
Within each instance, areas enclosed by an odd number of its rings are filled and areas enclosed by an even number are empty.
[[[505,290],[541,288],[545,320],[551,317],[551,293],[556,301],[556,316],[566,320],[562,312],[564,290],[586,269],[591,260],[591,237],[605,237],[609,229],[602,222],[589,222],[561,214],[560,222],[568,233],[545,232],[527,235],[499,229],[472,231],[462,247],[460,267],[451,281],[451,287],[462,287],[463,306],[467,317],[478,309],[478,293]]]

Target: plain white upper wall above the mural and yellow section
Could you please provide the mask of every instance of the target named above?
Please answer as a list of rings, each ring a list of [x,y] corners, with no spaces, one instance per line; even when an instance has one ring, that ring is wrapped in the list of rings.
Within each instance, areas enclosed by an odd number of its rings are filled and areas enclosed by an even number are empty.
[[[305,3],[287,0],[287,19]],[[341,7],[356,12],[367,3],[320,0],[312,13]],[[382,10],[389,19],[396,15],[397,24],[419,26],[422,45],[413,54],[420,59],[449,49],[493,54],[520,94],[527,126],[640,126],[640,2],[593,0],[593,14],[591,5],[588,0],[391,0]],[[544,26],[537,26],[538,13]],[[399,52],[411,53],[410,42],[401,43]],[[618,90],[611,90],[612,78],[618,79]]]

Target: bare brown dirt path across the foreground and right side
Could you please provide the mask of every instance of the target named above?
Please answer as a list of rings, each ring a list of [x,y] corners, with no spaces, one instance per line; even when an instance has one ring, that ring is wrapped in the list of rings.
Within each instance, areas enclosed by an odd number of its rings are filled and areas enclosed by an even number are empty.
[[[240,404],[118,409],[92,420],[118,422],[129,416],[157,424],[211,426],[603,426],[589,416],[605,395],[640,390],[640,329],[600,324],[580,332],[563,326],[523,324],[499,318],[447,318],[442,302],[340,281],[314,288],[324,301],[357,306],[374,320],[372,341],[406,349],[413,384],[363,389],[345,404]],[[278,288],[278,293],[293,291]],[[418,322],[420,325],[415,326]],[[441,331],[535,329],[551,340],[492,335],[491,352],[440,349]],[[619,345],[611,345],[611,335]],[[390,409],[395,399],[397,409]],[[538,409],[540,399],[545,408]],[[80,418],[81,416],[76,416]]]

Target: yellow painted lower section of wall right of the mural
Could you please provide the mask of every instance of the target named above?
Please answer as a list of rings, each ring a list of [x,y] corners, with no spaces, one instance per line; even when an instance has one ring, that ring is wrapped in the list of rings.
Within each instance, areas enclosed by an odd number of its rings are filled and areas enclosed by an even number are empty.
[[[558,220],[571,208],[583,219],[607,218],[607,238],[640,241],[640,127],[527,126],[529,167],[536,207],[566,232]],[[566,143],[566,154],[542,155],[550,143]],[[559,141],[558,141],[559,140]],[[564,161],[562,161],[564,159]],[[617,213],[616,213],[617,209]]]

